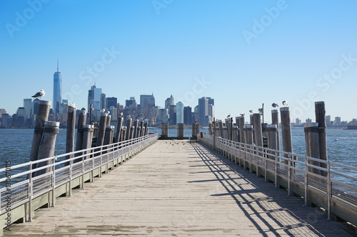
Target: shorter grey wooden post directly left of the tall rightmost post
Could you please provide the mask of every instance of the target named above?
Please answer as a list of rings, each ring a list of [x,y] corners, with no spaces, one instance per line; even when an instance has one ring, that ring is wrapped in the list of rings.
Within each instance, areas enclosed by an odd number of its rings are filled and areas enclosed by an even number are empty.
[[[306,122],[304,125],[305,142],[306,142],[306,155],[308,157],[320,158],[320,149],[318,146],[319,134],[317,122]],[[308,164],[313,164],[316,167],[320,167],[320,162],[308,160]],[[315,174],[321,174],[320,169],[308,167],[309,172]]]

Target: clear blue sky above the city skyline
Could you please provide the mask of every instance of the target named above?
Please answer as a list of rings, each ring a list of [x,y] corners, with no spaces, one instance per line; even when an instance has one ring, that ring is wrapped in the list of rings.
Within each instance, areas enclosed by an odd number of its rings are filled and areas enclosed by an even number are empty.
[[[314,119],[324,100],[327,115],[351,120],[356,9],[351,0],[0,1],[0,108],[12,115],[41,89],[52,100],[59,58],[63,93],[79,109],[96,82],[121,104],[211,97],[218,119],[264,103],[270,122],[271,103],[283,100],[292,119]]]

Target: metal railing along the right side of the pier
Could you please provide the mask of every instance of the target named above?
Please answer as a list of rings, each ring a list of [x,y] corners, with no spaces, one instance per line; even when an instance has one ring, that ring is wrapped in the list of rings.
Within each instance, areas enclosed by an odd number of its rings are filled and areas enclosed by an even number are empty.
[[[276,187],[278,185],[285,186],[288,189],[288,195],[298,194],[299,190],[300,192],[303,190],[301,196],[303,196],[306,205],[308,201],[316,201],[311,199],[309,194],[323,199],[324,201],[318,200],[318,204],[325,204],[321,207],[326,209],[328,219],[331,219],[331,214],[334,214],[356,225],[356,167],[323,161],[301,154],[233,142],[222,137],[216,137],[216,147],[213,147],[212,135],[203,135],[201,142],[231,158],[243,169],[249,169],[249,172],[255,171],[257,176],[261,175],[266,181],[268,179],[273,181]],[[343,207],[343,210],[341,211],[338,206]],[[343,212],[345,214],[348,212],[348,214],[343,216]]]

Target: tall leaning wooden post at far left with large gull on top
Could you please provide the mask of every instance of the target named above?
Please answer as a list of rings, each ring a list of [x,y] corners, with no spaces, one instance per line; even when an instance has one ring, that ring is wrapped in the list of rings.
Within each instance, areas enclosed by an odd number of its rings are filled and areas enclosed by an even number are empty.
[[[44,132],[44,123],[49,118],[49,109],[51,107],[51,101],[40,100],[39,102],[39,112],[36,117],[36,125],[34,129],[34,135],[32,137],[32,146],[30,153],[30,161],[34,162],[37,160],[39,154],[39,146],[41,142],[42,133]],[[34,169],[36,165],[32,166]]]

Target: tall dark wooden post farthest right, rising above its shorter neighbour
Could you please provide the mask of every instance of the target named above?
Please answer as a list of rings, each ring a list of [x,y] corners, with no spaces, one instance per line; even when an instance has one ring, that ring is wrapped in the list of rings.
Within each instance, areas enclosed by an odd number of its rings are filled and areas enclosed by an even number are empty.
[[[315,102],[315,115],[316,122],[318,123],[318,145],[320,149],[320,159],[327,162],[326,110],[324,101]],[[320,167],[327,169],[327,164],[321,162]],[[321,175],[327,177],[327,172],[321,170]]]

